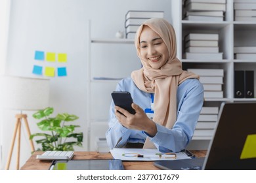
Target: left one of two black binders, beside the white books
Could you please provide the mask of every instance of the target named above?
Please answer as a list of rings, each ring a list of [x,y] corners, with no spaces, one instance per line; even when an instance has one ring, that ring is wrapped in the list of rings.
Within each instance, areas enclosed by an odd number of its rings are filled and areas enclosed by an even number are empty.
[[[235,98],[244,98],[245,91],[245,74],[244,71],[234,71],[234,97]]]

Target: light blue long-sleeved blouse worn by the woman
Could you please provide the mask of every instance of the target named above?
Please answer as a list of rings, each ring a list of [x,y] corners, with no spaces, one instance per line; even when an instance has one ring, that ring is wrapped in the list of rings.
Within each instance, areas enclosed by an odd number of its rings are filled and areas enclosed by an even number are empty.
[[[143,110],[150,108],[152,98],[150,93],[142,92],[137,88],[131,78],[121,80],[116,91],[130,92],[133,102]],[[177,90],[177,121],[172,129],[156,123],[158,132],[150,141],[154,142],[160,152],[179,152],[191,141],[194,129],[198,122],[203,105],[203,86],[197,79],[187,79],[182,82]],[[109,129],[106,139],[110,149],[122,148],[127,142],[144,143],[149,137],[144,131],[127,129],[119,124],[114,114],[114,102],[110,105]]]

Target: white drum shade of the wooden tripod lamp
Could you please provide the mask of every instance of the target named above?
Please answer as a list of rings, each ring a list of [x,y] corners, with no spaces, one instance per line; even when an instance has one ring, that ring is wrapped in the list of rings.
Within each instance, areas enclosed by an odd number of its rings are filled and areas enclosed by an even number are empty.
[[[1,76],[1,105],[16,110],[39,110],[49,105],[49,79]]]

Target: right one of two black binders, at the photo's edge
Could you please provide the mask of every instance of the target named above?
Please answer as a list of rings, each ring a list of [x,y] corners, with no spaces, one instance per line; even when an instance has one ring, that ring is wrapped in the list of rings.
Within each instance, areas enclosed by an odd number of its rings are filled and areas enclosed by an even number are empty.
[[[254,97],[254,72],[245,71],[245,98]]]

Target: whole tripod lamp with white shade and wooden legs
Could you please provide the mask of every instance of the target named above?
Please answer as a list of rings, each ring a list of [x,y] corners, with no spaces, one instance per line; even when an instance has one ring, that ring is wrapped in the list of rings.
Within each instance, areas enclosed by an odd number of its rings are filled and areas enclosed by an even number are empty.
[[[12,136],[11,149],[7,159],[5,169],[9,169],[12,150],[16,135],[17,139],[17,162],[16,169],[19,169],[20,163],[20,129],[22,120],[30,138],[30,127],[28,125],[27,115],[22,114],[22,110],[40,110],[49,105],[49,79],[41,78],[26,78],[20,76],[1,76],[1,105],[3,108],[20,110],[20,114],[16,114],[16,124],[14,126],[14,133]],[[30,140],[32,152],[35,151],[33,141]]]

